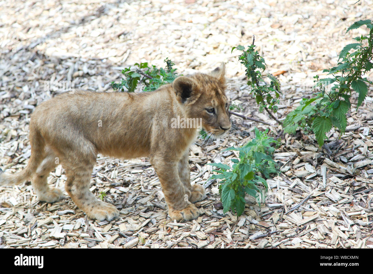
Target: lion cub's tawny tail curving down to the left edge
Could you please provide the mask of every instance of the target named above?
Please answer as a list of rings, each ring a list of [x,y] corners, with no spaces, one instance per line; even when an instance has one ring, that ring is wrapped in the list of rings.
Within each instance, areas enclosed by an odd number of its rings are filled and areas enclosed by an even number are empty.
[[[43,152],[45,142],[38,130],[32,129],[30,124],[30,143],[31,156],[26,168],[15,174],[1,173],[0,169],[0,186],[17,185],[26,182],[32,174],[35,173],[41,161],[43,160]]]

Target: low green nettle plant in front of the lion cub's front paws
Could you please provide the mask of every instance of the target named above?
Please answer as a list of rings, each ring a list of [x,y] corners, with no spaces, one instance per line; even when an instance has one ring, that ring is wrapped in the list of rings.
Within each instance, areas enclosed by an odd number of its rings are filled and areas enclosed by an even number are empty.
[[[219,174],[212,175],[210,179],[221,180],[219,193],[224,213],[231,209],[240,216],[245,209],[246,193],[264,201],[264,195],[268,189],[266,179],[271,173],[277,173],[275,162],[271,157],[275,148],[270,146],[271,143],[277,141],[267,136],[267,133],[268,129],[260,132],[255,128],[255,139],[242,147],[230,147],[223,150],[239,151],[239,158],[231,159],[234,163],[232,167],[222,163],[210,164],[219,168],[219,170],[214,170]]]

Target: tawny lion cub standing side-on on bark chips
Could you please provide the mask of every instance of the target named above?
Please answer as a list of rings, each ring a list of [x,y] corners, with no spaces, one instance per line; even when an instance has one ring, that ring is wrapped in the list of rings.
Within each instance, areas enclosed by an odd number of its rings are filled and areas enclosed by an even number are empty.
[[[178,117],[195,118],[214,136],[231,128],[225,95],[225,65],[209,74],[180,76],[154,92],[75,91],[43,102],[30,121],[31,157],[24,170],[0,174],[0,185],[31,179],[40,201],[56,202],[60,189],[47,176],[56,157],[65,169],[65,190],[88,217],[110,221],[119,216],[111,204],[89,190],[98,153],[117,158],[150,157],[162,185],[169,215],[177,221],[199,216],[193,204],[204,199],[201,185],[190,184],[189,146],[196,128],[171,126]],[[186,198],[187,197],[187,198]]]

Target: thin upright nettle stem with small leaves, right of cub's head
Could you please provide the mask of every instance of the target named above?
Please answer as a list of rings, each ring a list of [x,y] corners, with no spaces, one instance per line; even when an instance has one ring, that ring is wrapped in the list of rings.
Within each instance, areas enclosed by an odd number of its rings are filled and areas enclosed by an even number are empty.
[[[234,49],[242,51],[238,59],[241,60],[241,64],[246,67],[247,84],[251,87],[251,94],[254,95],[257,104],[259,104],[259,111],[263,112],[263,109],[266,110],[273,119],[280,123],[270,111],[272,110],[276,113],[278,110],[277,104],[279,104],[281,94],[278,79],[270,73],[264,76],[262,75],[266,69],[266,63],[263,57],[259,55],[258,51],[255,50],[254,41],[252,45],[248,46],[247,50],[245,50],[245,47],[242,45],[233,47],[232,51]],[[264,78],[269,78],[270,83],[268,84],[264,81]]]

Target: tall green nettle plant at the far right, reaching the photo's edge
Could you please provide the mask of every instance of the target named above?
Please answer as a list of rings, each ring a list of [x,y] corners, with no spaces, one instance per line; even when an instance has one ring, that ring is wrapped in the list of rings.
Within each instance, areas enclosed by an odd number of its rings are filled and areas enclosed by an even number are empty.
[[[351,108],[351,88],[358,93],[357,107],[363,103],[368,93],[368,85],[373,84],[363,77],[373,68],[372,39],[373,24],[371,20],[360,20],[353,23],[346,31],[367,26],[370,29],[366,36],[355,37],[356,43],[346,45],[339,53],[338,65],[325,69],[330,78],[319,79],[315,76],[319,92],[313,98],[303,99],[301,105],[286,116],[283,122],[284,132],[295,133],[298,128],[315,133],[317,143],[321,147],[326,133],[332,127],[344,133],[347,126],[347,112]],[[351,51],[355,50],[355,51]],[[351,51],[351,52],[350,52]],[[327,90],[329,85],[330,90]]]

